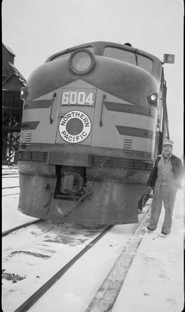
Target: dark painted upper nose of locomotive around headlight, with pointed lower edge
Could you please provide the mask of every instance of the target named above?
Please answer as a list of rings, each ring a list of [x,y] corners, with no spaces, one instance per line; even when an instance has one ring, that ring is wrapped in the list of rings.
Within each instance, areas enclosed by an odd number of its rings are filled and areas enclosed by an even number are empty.
[[[151,74],[140,67],[134,67],[134,65],[119,60],[103,56],[95,58],[97,66],[86,76],[77,76],[69,71],[66,58],[62,58],[58,62],[47,63],[47,66],[41,65],[27,81],[27,86],[30,89],[27,103],[80,78],[93,87],[122,100],[144,108],[149,106],[147,94],[150,91],[157,91],[156,80]],[[61,75],[62,72],[65,75]],[[125,73],[127,74],[125,75]],[[47,82],[43,79],[45,76],[47,76]],[[39,85],[39,89],[33,87],[35,85]],[[143,92],[146,93],[145,97]]]

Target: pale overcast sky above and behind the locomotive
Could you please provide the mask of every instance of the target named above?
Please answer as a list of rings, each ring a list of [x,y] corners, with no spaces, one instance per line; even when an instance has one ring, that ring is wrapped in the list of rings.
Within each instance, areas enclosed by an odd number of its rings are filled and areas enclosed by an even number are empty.
[[[2,37],[27,79],[51,54],[90,41],[132,43],[163,60],[173,153],[183,153],[182,0],[3,0]]]

